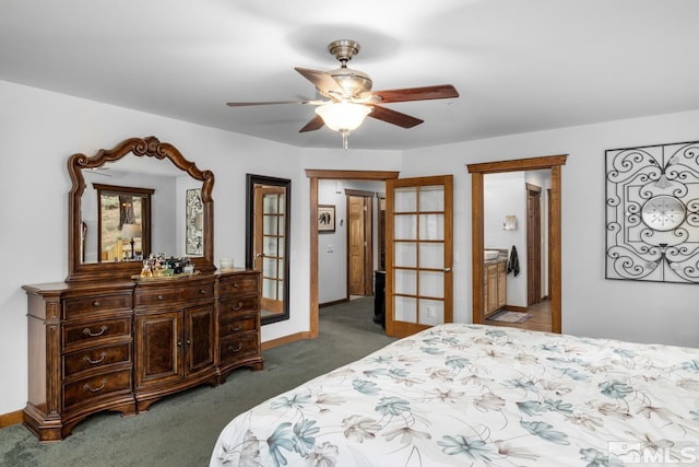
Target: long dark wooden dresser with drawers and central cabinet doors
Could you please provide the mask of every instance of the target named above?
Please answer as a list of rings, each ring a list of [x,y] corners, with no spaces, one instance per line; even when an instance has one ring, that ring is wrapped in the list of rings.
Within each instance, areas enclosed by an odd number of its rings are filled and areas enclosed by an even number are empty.
[[[91,413],[144,411],[238,366],[262,369],[260,273],[25,285],[25,424],[59,441]]]

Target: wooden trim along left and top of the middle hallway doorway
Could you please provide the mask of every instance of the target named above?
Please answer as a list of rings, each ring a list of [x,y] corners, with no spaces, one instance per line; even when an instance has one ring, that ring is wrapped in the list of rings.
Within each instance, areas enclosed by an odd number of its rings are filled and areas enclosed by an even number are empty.
[[[306,168],[310,182],[310,293],[309,293],[309,338],[318,338],[318,180],[388,180],[398,178],[398,171],[327,171]]]

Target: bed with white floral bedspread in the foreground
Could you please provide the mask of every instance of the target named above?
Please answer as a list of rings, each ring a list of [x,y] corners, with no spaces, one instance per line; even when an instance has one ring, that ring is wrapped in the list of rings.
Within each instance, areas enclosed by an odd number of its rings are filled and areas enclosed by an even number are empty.
[[[699,464],[699,349],[429,328],[232,420],[211,466]]]

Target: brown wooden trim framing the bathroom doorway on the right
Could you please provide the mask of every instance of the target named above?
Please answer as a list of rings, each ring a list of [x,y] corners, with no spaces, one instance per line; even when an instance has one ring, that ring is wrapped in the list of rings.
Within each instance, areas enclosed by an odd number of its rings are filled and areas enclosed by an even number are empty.
[[[474,324],[484,324],[483,313],[483,269],[485,248],[483,217],[484,217],[484,184],[483,176],[503,172],[538,171],[550,168],[550,242],[549,261],[550,277],[550,313],[552,330],[561,332],[561,226],[560,226],[560,191],[561,170],[568,154],[548,155],[543,157],[518,159],[511,161],[484,162],[467,164],[471,174],[471,266],[472,266],[472,319]]]

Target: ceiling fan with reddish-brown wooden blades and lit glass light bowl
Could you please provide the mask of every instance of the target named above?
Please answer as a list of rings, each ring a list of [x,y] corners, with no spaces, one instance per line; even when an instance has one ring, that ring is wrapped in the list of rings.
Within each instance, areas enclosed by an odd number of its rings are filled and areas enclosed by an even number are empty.
[[[384,107],[383,104],[459,97],[459,93],[451,84],[371,91],[372,82],[368,74],[347,68],[347,62],[359,52],[357,42],[351,39],[333,40],[328,45],[328,51],[340,60],[340,68],[327,72],[295,68],[304,78],[313,83],[318,94],[325,98],[229,102],[227,105],[230,107],[273,104],[316,105],[316,116],[299,132],[313,131],[328,126],[342,135],[343,147],[347,149],[347,136],[358,128],[367,116],[402,128],[413,128],[424,121]]]

